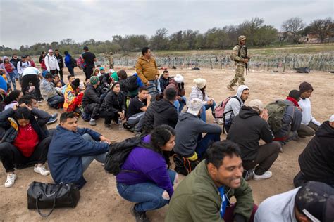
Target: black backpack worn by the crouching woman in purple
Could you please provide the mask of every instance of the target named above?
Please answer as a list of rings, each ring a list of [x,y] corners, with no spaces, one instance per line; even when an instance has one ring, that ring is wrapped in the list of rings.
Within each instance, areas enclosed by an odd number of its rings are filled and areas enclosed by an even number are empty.
[[[104,170],[113,175],[120,173],[120,167],[125,162],[125,159],[130,154],[131,150],[142,143],[142,138],[132,137],[127,138],[120,143],[113,143],[109,146],[109,152],[106,155],[104,162]],[[142,145],[141,145],[142,146]]]

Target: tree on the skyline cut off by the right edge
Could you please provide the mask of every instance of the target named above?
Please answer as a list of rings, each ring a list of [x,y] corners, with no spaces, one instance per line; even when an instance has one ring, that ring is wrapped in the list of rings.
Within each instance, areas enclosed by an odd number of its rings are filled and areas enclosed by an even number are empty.
[[[330,37],[331,34],[334,34],[334,22],[332,18],[314,20],[309,26],[312,32],[318,34],[321,42],[323,42],[326,37]]]

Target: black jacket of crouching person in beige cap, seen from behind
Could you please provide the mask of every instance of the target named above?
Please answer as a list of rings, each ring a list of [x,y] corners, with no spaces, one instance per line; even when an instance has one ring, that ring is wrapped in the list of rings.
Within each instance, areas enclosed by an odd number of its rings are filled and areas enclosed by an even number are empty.
[[[240,145],[242,160],[252,161],[256,157],[259,140],[273,142],[273,132],[258,112],[244,105],[233,118],[227,139]]]

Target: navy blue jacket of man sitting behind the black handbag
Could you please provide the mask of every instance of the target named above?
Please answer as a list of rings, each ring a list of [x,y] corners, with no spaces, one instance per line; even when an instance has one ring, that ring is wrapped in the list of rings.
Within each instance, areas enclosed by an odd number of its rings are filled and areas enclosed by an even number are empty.
[[[108,143],[85,141],[82,135],[88,133],[95,141],[100,141],[100,133],[87,128],[78,128],[77,132],[56,127],[47,155],[51,176],[56,183],[75,183],[82,188],[83,178],[81,157],[99,155],[109,150]]]

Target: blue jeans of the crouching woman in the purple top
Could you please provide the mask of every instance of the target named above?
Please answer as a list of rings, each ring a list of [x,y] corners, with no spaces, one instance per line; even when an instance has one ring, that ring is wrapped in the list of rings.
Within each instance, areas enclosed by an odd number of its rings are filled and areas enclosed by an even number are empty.
[[[176,176],[175,171],[168,169],[169,178],[174,185],[174,179]],[[165,200],[162,194],[165,190],[159,188],[155,183],[137,183],[133,185],[126,185],[125,183],[117,183],[117,190],[121,197],[130,202],[135,202],[135,211],[145,212],[154,209],[159,209],[166,204],[169,200]],[[170,197],[171,198],[171,197]]]

